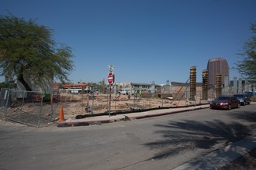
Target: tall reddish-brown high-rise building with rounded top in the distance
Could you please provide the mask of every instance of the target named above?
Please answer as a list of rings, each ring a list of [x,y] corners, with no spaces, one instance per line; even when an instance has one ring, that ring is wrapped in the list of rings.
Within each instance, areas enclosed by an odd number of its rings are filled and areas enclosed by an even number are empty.
[[[221,74],[222,84],[224,84],[226,79],[228,79],[228,82],[230,81],[230,70],[226,59],[221,57],[209,59],[207,63],[207,70],[209,85],[216,85],[216,75],[218,73]]]

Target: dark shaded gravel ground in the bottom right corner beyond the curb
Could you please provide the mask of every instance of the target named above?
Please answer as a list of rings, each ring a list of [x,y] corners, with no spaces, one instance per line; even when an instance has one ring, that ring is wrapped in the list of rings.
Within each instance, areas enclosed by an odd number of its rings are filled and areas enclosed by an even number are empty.
[[[220,168],[219,170],[232,169],[232,170],[254,170],[256,169],[256,148],[248,152],[246,155],[241,156],[230,162],[230,164]]]

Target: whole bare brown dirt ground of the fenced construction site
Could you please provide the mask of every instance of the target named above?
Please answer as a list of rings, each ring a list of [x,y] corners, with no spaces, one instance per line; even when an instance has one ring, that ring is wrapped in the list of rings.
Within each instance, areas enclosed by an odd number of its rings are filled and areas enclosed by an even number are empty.
[[[209,104],[197,97],[185,100],[175,95],[152,95],[148,91],[137,95],[121,93],[57,93],[43,96],[41,100],[22,100],[13,98],[3,107],[5,118],[36,127],[46,126],[58,121],[61,113],[65,119],[84,118],[106,114],[132,113],[143,110],[164,109],[171,107],[189,107],[191,105]]]

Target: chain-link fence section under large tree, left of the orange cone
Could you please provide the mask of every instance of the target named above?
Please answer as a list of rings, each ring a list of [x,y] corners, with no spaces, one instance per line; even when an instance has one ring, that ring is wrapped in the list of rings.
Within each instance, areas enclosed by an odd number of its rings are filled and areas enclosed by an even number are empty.
[[[54,119],[54,107],[50,102],[50,94],[1,89],[1,113],[6,119],[40,127]]]

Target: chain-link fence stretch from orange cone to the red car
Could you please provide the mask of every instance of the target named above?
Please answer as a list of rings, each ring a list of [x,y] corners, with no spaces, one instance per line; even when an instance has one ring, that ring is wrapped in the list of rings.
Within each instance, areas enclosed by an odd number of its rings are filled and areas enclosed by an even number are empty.
[[[151,93],[150,91],[138,91],[137,93],[115,93],[112,91],[101,93],[68,93],[59,91],[56,96],[64,109],[64,117],[76,117],[81,114],[116,114],[134,110],[148,110],[152,108],[163,107],[185,107],[194,104],[207,104],[202,101],[201,92],[196,100],[189,101],[189,92],[177,93],[169,91],[168,93]]]

